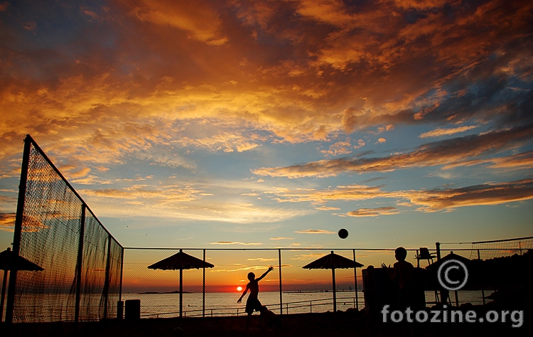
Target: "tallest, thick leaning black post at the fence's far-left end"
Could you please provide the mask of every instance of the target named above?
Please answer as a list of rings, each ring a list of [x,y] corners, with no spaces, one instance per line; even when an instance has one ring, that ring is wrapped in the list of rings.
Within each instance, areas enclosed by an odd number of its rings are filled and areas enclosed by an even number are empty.
[[[28,166],[30,164],[30,151],[32,139],[29,134],[24,139],[24,151],[22,155],[21,181],[18,185],[18,200],[16,204],[15,229],[13,233],[13,252],[11,258],[16,261],[21,252],[22,222],[24,202],[26,201],[26,185],[28,183]],[[7,289],[6,323],[13,323],[15,309],[16,269],[9,272],[9,288]]]

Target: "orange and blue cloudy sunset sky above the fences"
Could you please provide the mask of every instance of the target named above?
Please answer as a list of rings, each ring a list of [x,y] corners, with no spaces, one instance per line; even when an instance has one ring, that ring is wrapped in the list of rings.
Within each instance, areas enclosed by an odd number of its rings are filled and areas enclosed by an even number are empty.
[[[533,235],[532,33],[530,0],[0,0],[0,250],[26,134],[126,247]]]

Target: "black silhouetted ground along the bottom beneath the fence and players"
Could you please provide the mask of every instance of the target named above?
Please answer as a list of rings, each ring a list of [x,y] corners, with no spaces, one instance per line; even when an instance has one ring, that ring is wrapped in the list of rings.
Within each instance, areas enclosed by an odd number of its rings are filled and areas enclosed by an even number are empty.
[[[381,318],[379,318],[381,319]],[[206,317],[183,319],[141,319],[139,321],[101,321],[84,323],[78,330],[68,323],[15,325],[13,336],[533,336],[532,319],[526,312],[524,326],[507,323],[382,323],[370,322],[354,312],[293,314],[281,317],[281,326],[258,328],[253,316],[249,331],[246,317]],[[183,333],[175,332],[176,328]],[[7,332],[5,326],[0,327]],[[4,336],[4,333],[0,333]],[[8,336],[6,333],[5,336]],[[3,337],[2,336],[2,337]]]

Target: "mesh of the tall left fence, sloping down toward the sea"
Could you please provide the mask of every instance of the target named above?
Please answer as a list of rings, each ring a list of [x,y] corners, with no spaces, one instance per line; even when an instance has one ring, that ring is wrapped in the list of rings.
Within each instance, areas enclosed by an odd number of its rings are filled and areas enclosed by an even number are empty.
[[[84,207],[31,141],[19,255],[44,270],[16,273],[14,323],[75,320],[78,277],[78,319],[116,316],[122,246],[90,212],[85,215],[82,272],[77,275]]]

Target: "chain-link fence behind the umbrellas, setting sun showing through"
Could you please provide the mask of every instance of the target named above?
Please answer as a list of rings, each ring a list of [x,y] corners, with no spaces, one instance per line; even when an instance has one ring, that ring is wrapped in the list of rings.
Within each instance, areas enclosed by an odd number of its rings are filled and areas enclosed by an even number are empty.
[[[179,311],[179,270],[148,266],[176,254],[180,248],[124,248],[122,299],[140,299],[141,317],[176,317]],[[337,255],[364,265],[335,269],[335,304],[332,269],[303,267],[330,254],[329,249],[187,249],[183,252],[213,264],[212,268],[183,270],[182,316],[244,315],[247,274],[260,277],[259,300],[277,314],[357,309],[365,307],[362,269],[396,262],[394,250],[336,249]],[[416,250],[408,260],[416,266]],[[433,293],[429,293],[430,295]],[[430,298],[431,299],[431,298]]]

